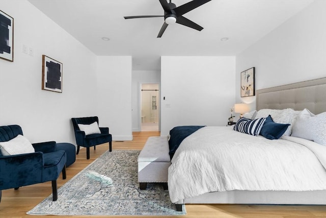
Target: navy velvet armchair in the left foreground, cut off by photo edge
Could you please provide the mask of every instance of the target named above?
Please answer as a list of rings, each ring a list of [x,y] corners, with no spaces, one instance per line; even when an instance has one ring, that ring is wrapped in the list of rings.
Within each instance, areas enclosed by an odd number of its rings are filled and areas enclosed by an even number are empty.
[[[22,135],[18,125],[1,126],[0,141],[9,141]],[[42,182],[52,182],[52,200],[57,201],[57,179],[62,172],[66,179],[66,152],[57,151],[55,141],[33,143],[35,153],[3,156],[0,151],[0,201],[1,190]]]

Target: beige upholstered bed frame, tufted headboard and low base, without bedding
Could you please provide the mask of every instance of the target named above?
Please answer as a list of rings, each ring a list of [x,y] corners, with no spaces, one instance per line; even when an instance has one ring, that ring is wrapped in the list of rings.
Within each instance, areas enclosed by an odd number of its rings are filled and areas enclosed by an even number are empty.
[[[261,109],[288,109],[302,111],[305,108],[311,113],[326,112],[326,78],[292,83],[256,91],[256,110]],[[293,111],[293,110],[292,110]],[[228,127],[225,127],[228,128]],[[235,132],[235,131],[233,131]],[[196,135],[197,136],[197,135]],[[291,138],[290,136],[286,136]],[[292,137],[295,138],[295,137]],[[205,139],[204,139],[205,140]],[[265,139],[264,139],[265,140]],[[282,139],[283,140],[283,139]],[[306,140],[306,139],[304,139]],[[275,140],[277,141],[277,140]],[[312,142],[315,143],[315,142]],[[181,144],[180,144],[181,146]],[[202,145],[201,145],[202,146]],[[321,145],[322,149],[323,146]],[[323,150],[322,150],[323,151]],[[316,155],[317,156],[317,155]],[[187,157],[189,158],[189,157]],[[179,161],[179,159],[178,159]],[[318,162],[318,161],[317,161]],[[320,164],[320,163],[319,163]],[[173,165],[173,159],[172,159]],[[172,166],[171,165],[171,166]],[[320,167],[320,166],[319,166]],[[173,171],[173,167],[171,172]],[[175,192],[170,183],[177,182],[170,175],[169,191]],[[324,169],[325,171],[325,169]],[[325,171],[326,174],[326,171]],[[182,178],[179,178],[182,182]],[[183,180],[184,181],[184,180]],[[184,184],[183,184],[184,185]],[[198,185],[198,184],[196,184]],[[196,186],[195,185],[195,186]],[[309,188],[308,188],[309,189]],[[180,209],[182,204],[311,204],[326,205],[326,188],[321,190],[226,190],[212,191],[194,197],[172,200]],[[173,198],[173,197],[172,197]]]

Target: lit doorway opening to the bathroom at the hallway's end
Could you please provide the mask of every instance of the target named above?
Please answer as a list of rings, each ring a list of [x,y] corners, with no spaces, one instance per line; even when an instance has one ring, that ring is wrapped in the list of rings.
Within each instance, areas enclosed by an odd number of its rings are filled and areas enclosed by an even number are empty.
[[[141,131],[159,131],[159,85],[144,83],[141,85]]]

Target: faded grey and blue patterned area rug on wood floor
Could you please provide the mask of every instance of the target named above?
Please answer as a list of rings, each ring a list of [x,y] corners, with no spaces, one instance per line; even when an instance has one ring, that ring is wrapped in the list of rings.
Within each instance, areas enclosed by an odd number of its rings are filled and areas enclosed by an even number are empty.
[[[176,211],[161,184],[140,190],[137,158],[140,151],[105,152],[52,195],[28,211],[31,215],[185,215]],[[69,168],[67,169],[69,171]]]

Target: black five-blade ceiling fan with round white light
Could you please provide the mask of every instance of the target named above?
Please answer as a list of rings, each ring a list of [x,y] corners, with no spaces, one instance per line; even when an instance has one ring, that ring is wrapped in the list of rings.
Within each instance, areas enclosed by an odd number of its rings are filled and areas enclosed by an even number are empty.
[[[169,24],[172,23],[179,23],[181,25],[184,25],[186,27],[193,28],[195,30],[201,31],[202,28],[197,23],[185,18],[182,16],[183,14],[194,10],[195,8],[204,5],[205,3],[209,2],[211,0],[193,0],[191,2],[188,2],[186,4],[183,4],[179,7],[176,7],[175,4],[167,2],[167,0],[159,0],[162,8],[164,9],[164,15],[143,15],[143,16],[126,16],[125,19],[132,19],[132,18],[147,18],[147,17],[164,17],[165,22],[163,23],[163,26],[161,27],[157,38],[160,38],[164,31],[167,29]]]

